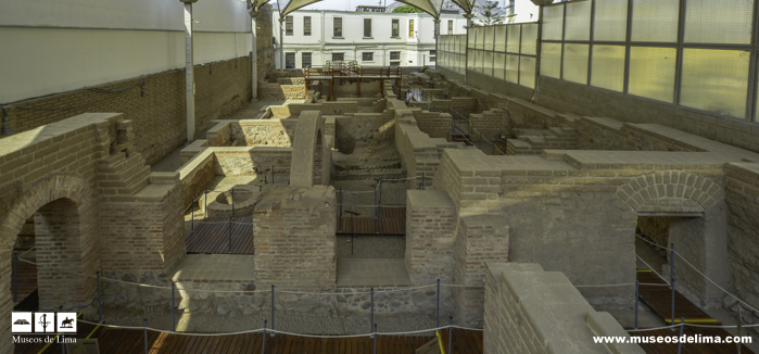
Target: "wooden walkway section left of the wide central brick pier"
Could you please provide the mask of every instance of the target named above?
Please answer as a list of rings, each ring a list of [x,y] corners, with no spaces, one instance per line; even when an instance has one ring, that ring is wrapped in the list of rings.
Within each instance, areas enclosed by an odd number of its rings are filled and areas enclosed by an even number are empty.
[[[197,220],[195,229],[187,236],[187,253],[253,254],[253,217],[236,217],[231,223],[229,251],[229,218],[208,217]]]

